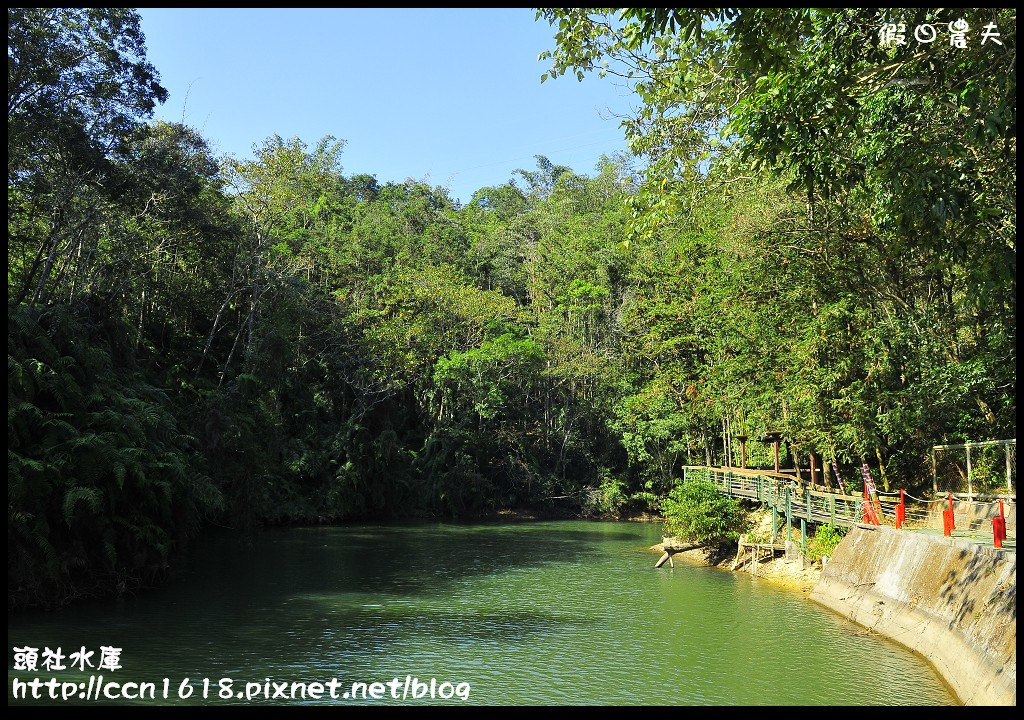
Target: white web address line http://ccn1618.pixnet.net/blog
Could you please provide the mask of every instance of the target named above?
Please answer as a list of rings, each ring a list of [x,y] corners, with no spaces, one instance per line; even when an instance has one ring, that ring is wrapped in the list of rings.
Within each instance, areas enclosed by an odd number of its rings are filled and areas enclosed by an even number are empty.
[[[170,678],[156,682],[112,680],[90,675],[79,682],[55,677],[14,678],[11,693],[15,701],[109,702],[109,701],[461,701],[469,700],[468,682],[437,678],[421,679],[414,675],[393,677],[378,682],[345,682],[330,678],[324,682],[288,681],[264,678],[262,681],[236,681],[232,678]]]

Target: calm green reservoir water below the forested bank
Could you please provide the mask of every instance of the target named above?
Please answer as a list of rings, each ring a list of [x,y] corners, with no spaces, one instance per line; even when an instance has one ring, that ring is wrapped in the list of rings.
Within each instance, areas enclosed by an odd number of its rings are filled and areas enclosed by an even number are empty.
[[[227,705],[245,701],[220,700],[221,678],[234,694],[337,677],[340,696],[407,675],[467,682],[481,704],[955,702],[924,660],[799,593],[682,562],[655,570],[659,540],[656,524],[582,521],[217,535],[161,590],[9,617],[8,647],[85,646],[93,662],[120,647],[104,679],[157,682],[148,704],[186,677],[188,702],[210,678],[206,702]],[[98,674],[12,667],[9,654],[9,702],[15,677]]]

